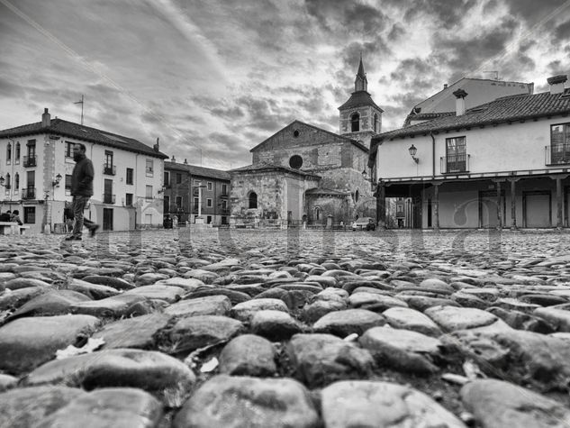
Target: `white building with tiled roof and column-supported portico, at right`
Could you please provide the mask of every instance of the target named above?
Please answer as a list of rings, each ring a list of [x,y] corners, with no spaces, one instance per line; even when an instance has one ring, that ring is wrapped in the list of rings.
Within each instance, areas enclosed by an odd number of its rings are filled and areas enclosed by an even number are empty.
[[[570,88],[506,96],[372,140],[369,166],[377,182],[378,222],[385,198],[409,197],[414,227],[568,227]]]

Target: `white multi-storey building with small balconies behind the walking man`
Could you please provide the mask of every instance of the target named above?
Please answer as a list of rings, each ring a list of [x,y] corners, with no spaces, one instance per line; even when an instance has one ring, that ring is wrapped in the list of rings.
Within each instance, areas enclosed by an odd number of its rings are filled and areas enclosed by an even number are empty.
[[[151,148],[112,132],[51,119],[48,109],[39,123],[0,131],[2,211],[18,209],[31,232],[63,232],[65,208],[72,200],[75,143],[85,144],[95,168],[86,218],[106,231],[162,224],[167,156],[159,151],[158,141]]]

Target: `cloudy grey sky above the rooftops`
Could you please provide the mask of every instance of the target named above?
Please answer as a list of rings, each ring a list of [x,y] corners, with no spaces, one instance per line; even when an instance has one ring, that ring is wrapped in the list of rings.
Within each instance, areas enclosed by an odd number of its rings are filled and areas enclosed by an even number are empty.
[[[0,0],[0,129],[53,116],[212,168],[338,132],[360,52],[383,131],[460,77],[570,75],[570,0]]]

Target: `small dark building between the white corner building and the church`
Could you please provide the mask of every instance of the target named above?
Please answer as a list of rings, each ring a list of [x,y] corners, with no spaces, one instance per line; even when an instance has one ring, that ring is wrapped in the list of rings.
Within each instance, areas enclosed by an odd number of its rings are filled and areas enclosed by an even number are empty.
[[[164,163],[164,213],[179,222],[229,224],[231,177],[226,171],[177,163]],[[202,221],[202,222],[201,222]]]

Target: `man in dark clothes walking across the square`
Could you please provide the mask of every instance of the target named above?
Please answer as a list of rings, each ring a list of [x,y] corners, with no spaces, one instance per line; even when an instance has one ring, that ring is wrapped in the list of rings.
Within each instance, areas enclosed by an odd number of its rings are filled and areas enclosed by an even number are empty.
[[[95,236],[95,232],[99,229],[99,225],[91,220],[83,218],[83,211],[89,202],[89,198],[93,196],[93,177],[95,171],[93,162],[86,158],[86,146],[76,143],[73,146],[73,159],[76,166],[73,168],[71,175],[71,196],[73,196],[73,232],[66,238],[66,241],[81,241],[81,233],[83,226],[91,232],[91,236]]]

